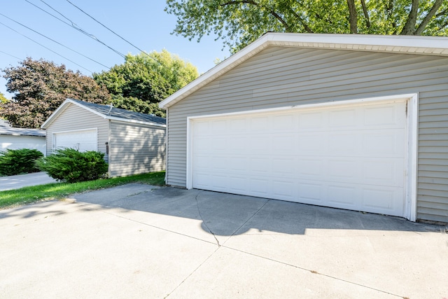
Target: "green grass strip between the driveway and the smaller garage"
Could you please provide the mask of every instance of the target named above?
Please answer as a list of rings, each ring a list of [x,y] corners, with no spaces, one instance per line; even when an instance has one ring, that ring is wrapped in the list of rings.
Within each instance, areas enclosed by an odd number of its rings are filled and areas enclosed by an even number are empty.
[[[75,193],[110,188],[124,185],[125,183],[146,183],[149,185],[163,186],[165,185],[165,172],[99,179],[82,183],[47,183],[45,185],[0,191],[0,209],[45,200],[62,199]]]

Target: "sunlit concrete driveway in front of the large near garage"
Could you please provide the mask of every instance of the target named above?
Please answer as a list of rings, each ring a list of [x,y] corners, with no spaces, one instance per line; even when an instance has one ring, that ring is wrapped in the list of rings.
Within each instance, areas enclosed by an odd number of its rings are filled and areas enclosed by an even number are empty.
[[[0,298],[448,298],[444,227],[130,184],[0,211]]]

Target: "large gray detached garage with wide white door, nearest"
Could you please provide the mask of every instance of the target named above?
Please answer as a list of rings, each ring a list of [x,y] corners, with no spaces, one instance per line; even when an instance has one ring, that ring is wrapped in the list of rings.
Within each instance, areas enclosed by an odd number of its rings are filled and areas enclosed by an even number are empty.
[[[160,106],[172,186],[448,222],[447,38],[269,33]]]

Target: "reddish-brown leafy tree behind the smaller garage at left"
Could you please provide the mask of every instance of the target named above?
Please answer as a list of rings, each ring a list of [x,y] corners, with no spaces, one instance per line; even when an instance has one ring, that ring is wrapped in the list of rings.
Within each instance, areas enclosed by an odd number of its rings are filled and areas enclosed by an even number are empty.
[[[13,127],[40,127],[68,97],[106,104],[110,101],[106,88],[91,77],[45,60],[28,57],[19,67],[2,70],[8,92],[13,99],[1,104],[0,116]]]

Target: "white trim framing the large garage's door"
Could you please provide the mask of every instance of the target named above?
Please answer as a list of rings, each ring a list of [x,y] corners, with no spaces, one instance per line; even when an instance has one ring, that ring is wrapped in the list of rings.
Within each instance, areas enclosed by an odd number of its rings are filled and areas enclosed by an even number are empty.
[[[187,118],[187,161],[186,161],[186,187],[193,188],[193,126],[195,120],[202,118],[225,118],[227,116],[248,115],[256,113],[266,113],[271,111],[288,111],[291,109],[318,109],[333,106],[352,106],[352,105],[367,105],[367,104],[382,104],[388,102],[407,102],[407,151],[405,159],[405,218],[410,221],[416,220],[416,170],[417,170],[417,136],[418,136],[418,95],[392,95],[384,97],[370,97],[362,99],[347,99],[338,102],[325,102],[318,104],[304,104],[295,106],[283,106],[274,109],[259,109],[252,111],[240,111],[235,113],[221,113],[210,114],[207,116],[190,116]]]

